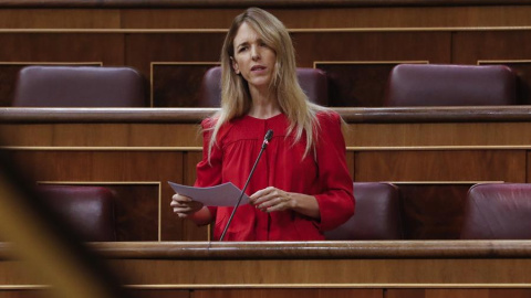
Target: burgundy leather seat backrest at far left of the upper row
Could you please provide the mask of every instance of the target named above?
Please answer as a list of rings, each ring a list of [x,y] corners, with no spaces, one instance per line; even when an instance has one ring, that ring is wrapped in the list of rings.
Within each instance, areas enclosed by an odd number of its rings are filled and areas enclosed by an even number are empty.
[[[14,89],[15,107],[144,107],[143,76],[129,67],[27,66]]]

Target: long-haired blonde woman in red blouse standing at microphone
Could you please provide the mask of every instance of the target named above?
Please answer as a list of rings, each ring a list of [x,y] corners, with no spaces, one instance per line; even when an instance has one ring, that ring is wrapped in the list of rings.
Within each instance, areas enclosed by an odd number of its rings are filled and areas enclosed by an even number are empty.
[[[320,241],[354,212],[352,179],[337,114],[309,103],[299,86],[291,38],[275,17],[250,8],[238,15],[221,52],[221,109],[202,121],[204,159],[196,187],[243,188],[266,131],[263,152],[227,241]],[[236,201],[237,198],[235,198]],[[219,240],[232,207],[202,206],[175,194],[179,217],[215,222]]]

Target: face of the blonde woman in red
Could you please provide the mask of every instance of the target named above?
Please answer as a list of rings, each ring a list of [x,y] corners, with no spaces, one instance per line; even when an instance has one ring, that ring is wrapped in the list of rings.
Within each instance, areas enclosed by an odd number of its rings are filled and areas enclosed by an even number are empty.
[[[232,68],[248,82],[249,88],[269,88],[277,62],[275,52],[246,22],[236,34]]]

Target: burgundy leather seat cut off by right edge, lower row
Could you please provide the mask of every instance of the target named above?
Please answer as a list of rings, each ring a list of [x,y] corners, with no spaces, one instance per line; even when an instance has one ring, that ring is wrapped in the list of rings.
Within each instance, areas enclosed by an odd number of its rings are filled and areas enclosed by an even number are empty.
[[[470,188],[461,240],[531,240],[531,184],[485,183]]]

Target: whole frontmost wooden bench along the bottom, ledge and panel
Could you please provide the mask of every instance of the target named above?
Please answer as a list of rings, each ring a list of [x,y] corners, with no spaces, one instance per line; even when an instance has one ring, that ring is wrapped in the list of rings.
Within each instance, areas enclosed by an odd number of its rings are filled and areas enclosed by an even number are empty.
[[[329,294],[382,295],[397,290],[396,295],[400,295],[412,289],[460,295],[470,290],[529,291],[529,244],[528,241],[163,242],[90,246],[132,290],[200,290],[205,295],[279,290],[293,295],[296,290],[320,288]],[[45,285],[42,277],[27,274],[22,260],[13,259],[14,247],[0,246],[0,287],[20,290]]]

